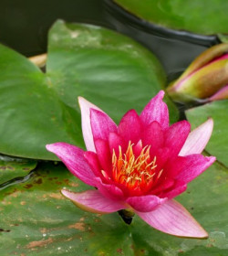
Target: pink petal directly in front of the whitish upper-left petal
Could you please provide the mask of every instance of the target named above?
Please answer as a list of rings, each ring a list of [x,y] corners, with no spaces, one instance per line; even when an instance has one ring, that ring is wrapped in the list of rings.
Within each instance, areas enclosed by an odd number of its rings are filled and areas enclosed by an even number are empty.
[[[109,140],[109,133],[117,133],[117,125],[108,114],[94,109],[90,110],[90,121],[94,140]]]

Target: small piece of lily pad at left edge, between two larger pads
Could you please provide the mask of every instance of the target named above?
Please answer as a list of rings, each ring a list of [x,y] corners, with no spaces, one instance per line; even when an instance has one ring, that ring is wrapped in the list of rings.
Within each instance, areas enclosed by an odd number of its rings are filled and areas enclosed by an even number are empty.
[[[26,176],[36,168],[36,161],[27,159],[16,159],[8,156],[0,156],[0,190],[5,182]]]

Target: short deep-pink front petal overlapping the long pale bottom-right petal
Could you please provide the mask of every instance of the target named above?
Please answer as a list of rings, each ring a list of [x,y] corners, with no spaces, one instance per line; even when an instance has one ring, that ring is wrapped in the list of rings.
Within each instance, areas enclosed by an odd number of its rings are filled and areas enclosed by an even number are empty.
[[[133,209],[140,212],[148,212],[154,210],[166,201],[166,198],[160,198],[152,195],[141,197],[129,197],[127,203]]]

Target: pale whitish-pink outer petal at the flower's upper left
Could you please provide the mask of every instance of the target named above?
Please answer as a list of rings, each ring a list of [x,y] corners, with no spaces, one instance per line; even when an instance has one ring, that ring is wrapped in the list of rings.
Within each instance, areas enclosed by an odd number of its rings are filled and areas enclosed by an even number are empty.
[[[88,151],[95,152],[95,145],[90,124],[90,109],[98,110],[100,112],[102,111],[97,106],[82,97],[78,97],[78,102],[81,110],[81,126],[84,142]]]

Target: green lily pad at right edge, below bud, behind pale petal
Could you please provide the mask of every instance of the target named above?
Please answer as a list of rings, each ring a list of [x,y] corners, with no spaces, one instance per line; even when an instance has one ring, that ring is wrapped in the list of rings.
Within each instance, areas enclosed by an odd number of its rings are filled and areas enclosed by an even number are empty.
[[[203,123],[207,118],[213,119],[213,132],[206,151],[215,155],[217,160],[228,166],[228,119],[226,112],[228,101],[214,101],[200,107],[192,108],[186,113],[187,119],[192,123],[192,129]]]

